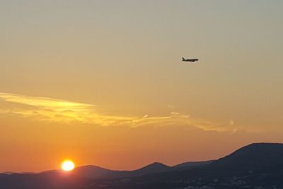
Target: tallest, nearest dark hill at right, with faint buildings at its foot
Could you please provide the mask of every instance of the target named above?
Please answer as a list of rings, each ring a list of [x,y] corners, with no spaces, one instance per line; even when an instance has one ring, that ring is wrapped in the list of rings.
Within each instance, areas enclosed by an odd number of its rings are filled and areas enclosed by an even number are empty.
[[[166,182],[171,183],[174,186],[173,188],[207,186],[214,189],[269,189],[283,188],[282,178],[283,144],[253,143],[241,147],[226,157],[212,161],[211,164],[206,166],[158,173],[154,176],[142,176],[132,182],[144,182],[148,185]],[[178,183],[178,185],[174,183]]]

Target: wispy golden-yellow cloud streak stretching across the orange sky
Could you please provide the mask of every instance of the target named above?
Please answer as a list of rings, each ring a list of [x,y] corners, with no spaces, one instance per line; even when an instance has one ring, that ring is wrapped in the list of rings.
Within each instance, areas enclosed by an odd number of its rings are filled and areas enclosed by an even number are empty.
[[[129,128],[186,126],[218,132],[235,132],[236,130],[233,124],[227,124],[227,121],[223,123],[205,121],[175,111],[168,116],[116,116],[99,114],[93,104],[69,102],[48,97],[30,97],[0,92],[0,100],[6,102],[6,107],[1,106],[0,114],[24,116],[38,121],[79,122],[97,126],[127,126]]]

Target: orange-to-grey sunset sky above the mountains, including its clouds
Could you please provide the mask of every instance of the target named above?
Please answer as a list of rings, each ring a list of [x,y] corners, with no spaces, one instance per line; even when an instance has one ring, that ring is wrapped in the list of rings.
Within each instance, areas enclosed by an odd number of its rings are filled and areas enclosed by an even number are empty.
[[[130,170],[283,142],[282,9],[1,1],[0,171]]]

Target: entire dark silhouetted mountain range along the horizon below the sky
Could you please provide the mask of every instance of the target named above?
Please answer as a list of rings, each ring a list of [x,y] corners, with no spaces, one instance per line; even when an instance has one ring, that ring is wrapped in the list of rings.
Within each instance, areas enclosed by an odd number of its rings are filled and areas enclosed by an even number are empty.
[[[0,188],[283,188],[283,144],[254,143],[215,161],[153,163],[133,171],[81,166],[74,171],[0,173]]]

